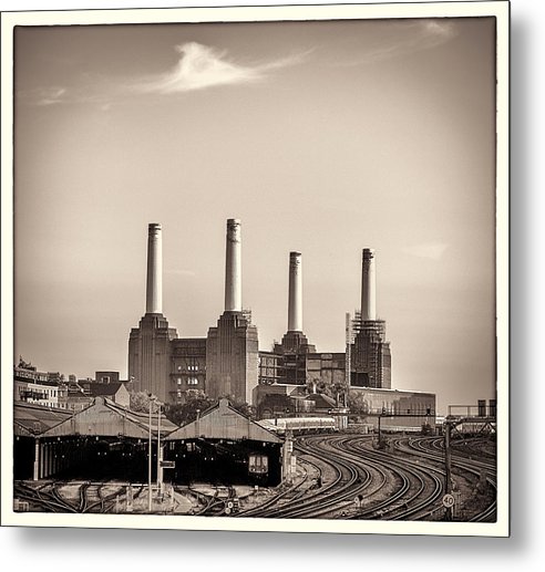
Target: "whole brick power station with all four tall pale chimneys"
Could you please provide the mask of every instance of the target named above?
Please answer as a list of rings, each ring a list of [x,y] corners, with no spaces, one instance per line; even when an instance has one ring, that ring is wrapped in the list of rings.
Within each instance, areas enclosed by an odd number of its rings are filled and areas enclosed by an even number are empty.
[[[128,376],[134,391],[164,403],[185,401],[191,389],[213,398],[228,396],[258,405],[271,386],[300,391],[319,384],[350,388],[391,388],[390,343],[385,322],[377,319],[376,253],[362,251],[361,311],[352,321],[346,353],[317,352],[302,325],[302,256],[289,254],[287,331],[272,351],[258,347],[257,327],[243,310],[241,226],[227,220],[225,306],[206,337],[178,337],[163,314],[162,228],[148,226],[146,311],[128,337]],[[349,366],[347,364],[349,356]],[[277,387],[278,389],[280,387]]]

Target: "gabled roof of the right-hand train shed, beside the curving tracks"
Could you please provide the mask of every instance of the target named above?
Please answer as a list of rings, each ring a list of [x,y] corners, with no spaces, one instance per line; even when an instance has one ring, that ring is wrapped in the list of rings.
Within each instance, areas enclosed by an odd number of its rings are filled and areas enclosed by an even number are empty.
[[[249,439],[263,443],[284,443],[274,433],[234,409],[227,399],[206,409],[199,419],[183,425],[166,437],[166,440],[185,439]]]

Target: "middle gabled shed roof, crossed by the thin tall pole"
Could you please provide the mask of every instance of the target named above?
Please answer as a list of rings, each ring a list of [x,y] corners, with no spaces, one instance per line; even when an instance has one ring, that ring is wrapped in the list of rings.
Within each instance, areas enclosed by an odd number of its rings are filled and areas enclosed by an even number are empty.
[[[157,413],[152,410],[152,436],[157,437]],[[161,416],[161,436],[176,429],[177,425]],[[130,437],[147,439],[150,416],[147,413],[132,412],[106,397],[95,397],[92,405],[70,416],[59,425],[45,430],[41,437]]]

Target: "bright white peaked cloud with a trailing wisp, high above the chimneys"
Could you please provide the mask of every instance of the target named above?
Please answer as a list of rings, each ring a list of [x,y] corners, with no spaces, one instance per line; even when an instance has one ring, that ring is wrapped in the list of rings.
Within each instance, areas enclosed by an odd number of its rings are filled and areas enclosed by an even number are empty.
[[[152,76],[135,85],[144,93],[172,94],[204,90],[216,85],[234,85],[264,80],[267,72],[302,62],[309,52],[256,65],[243,65],[230,60],[226,51],[196,42],[176,46],[181,54],[168,72]]]

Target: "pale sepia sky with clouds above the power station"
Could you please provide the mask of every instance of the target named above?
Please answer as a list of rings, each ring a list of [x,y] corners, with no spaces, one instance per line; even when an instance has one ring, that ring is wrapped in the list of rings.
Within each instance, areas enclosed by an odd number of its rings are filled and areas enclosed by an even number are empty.
[[[392,387],[494,397],[493,19],[18,28],[14,360],[126,375],[148,222],[179,336],[223,311],[225,222],[261,350],[345,349],[377,253]]]

